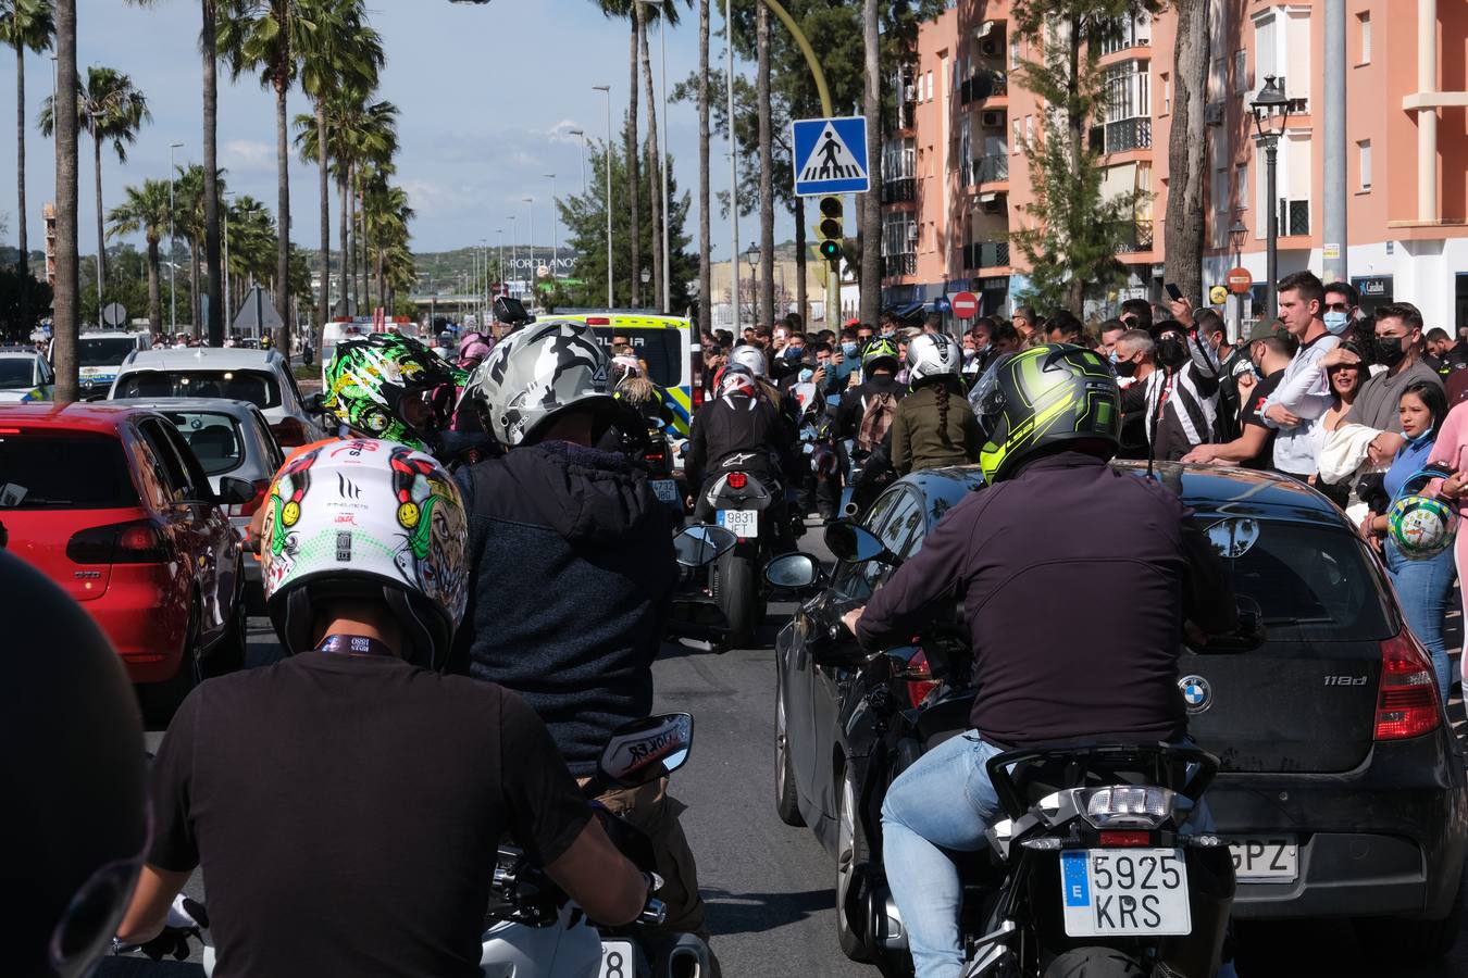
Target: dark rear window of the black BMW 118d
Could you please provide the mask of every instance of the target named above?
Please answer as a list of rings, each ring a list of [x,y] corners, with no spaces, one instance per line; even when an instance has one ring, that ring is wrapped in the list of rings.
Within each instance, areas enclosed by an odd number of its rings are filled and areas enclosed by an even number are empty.
[[[1199,515],[1202,526],[1221,516]],[[1229,518],[1238,521],[1238,518]],[[1249,521],[1254,522],[1254,521]],[[1258,604],[1273,641],[1381,641],[1392,635],[1383,581],[1365,543],[1340,528],[1257,521],[1258,537],[1224,557],[1236,595]]]

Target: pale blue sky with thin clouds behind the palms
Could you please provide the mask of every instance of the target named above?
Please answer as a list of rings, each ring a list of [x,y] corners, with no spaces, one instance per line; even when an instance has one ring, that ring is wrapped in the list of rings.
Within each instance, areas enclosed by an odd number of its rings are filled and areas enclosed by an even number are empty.
[[[78,0],[76,63],[104,65],[132,75],[148,97],[153,111],[128,161],[110,151],[103,155],[104,208],[116,205],[122,188],[145,177],[169,173],[169,144],[178,163],[201,158],[203,101],[200,95],[198,3],[160,0],[138,9],[122,0]],[[612,125],[621,129],[627,110],[628,29],[625,22],[606,21],[590,0],[492,0],[487,4],[455,4],[449,0],[370,0],[370,19],[383,35],[388,65],[380,98],[402,110],[399,117],[398,176],[417,211],[413,248],[420,252],[446,251],[487,240],[508,248],[530,239],[531,217],[523,198],[531,196],[534,243],[552,240],[550,180],[556,192],[578,192],[581,142],[567,135],[584,129],[605,138],[606,100],[593,85],[612,85]],[[721,21],[713,18],[713,29]],[[658,35],[650,38],[655,84],[661,85]],[[687,78],[699,62],[696,6],[684,9],[683,23],[668,32],[669,88]],[[721,63],[724,48],[712,41],[711,59]],[[737,70],[750,70],[740,65]],[[53,199],[56,186],[51,141],[35,126],[41,101],[51,94],[50,54],[31,54],[26,81],[26,202],[31,248],[41,246],[41,207]],[[694,104],[671,104],[668,152],[674,177],[688,194],[697,192],[699,119]],[[310,111],[307,98],[291,92],[289,113]],[[0,214],[7,216],[7,243],[16,230],[15,53],[0,50]],[[644,130],[646,110],[640,128]],[[659,119],[661,122],[661,119]],[[219,166],[228,170],[229,189],[276,205],[275,101],[257,76],[219,81]],[[715,136],[712,147],[712,191],[728,188],[728,157]],[[95,254],[94,169],[91,144],[81,144],[81,251]],[[292,152],[291,211],[292,239],[317,246],[317,170]],[[336,198],[332,196],[333,248]],[[514,216],[515,220],[508,220]],[[688,216],[697,232],[697,208]],[[747,248],[757,218],[744,218],[740,238]],[[793,233],[790,217],[777,220],[777,240]],[[564,232],[562,232],[564,235]],[[713,201],[713,257],[727,258],[728,223]],[[134,242],[142,245],[141,236]]]

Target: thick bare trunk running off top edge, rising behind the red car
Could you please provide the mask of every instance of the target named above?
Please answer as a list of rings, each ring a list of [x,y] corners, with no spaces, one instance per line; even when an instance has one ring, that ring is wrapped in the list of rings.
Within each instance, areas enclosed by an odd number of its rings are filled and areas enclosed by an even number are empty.
[[[76,104],[76,0],[56,0],[56,106]],[[56,299],[57,403],[76,400],[76,113],[56,117]]]

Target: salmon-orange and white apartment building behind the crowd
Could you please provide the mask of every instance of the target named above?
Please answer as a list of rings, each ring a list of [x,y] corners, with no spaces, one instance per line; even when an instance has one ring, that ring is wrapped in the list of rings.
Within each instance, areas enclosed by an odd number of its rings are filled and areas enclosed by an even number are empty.
[[[1409,299],[1431,326],[1468,327],[1468,3],[1345,0],[1346,240],[1323,240],[1324,0],[1213,0],[1205,286],[1242,264],[1262,314],[1268,207],[1279,270],[1323,271],[1345,252],[1368,308]],[[972,290],[1007,312],[1026,287],[1011,229],[1032,220],[1026,148],[1045,107],[1013,81],[1039,51],[1014,35],[1009,0],[959,0],[923,23],[893,79],[898,110],[882,148],[884,301]],[[1173,116],[1173,15],[1119,25],[1101,51],[1108,104],[1092,120],[1107,192],[1144,191],[1120,255],[1126,282],[1102,306],[1163,296],[1163,220]],[[1249,103],[1283,78],[1293,111],[1279,141],[1276,201]],[[1277,128],[1277,123],[1276,123]],[[1238,251],[1229,230],[1246,233]]]

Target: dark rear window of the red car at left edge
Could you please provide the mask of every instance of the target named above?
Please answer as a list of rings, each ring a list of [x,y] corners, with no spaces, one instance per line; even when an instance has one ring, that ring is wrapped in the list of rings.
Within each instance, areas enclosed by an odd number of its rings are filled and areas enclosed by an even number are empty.
[[[82,431],[0,434],[0,510],[138,504],[117,438]]]

